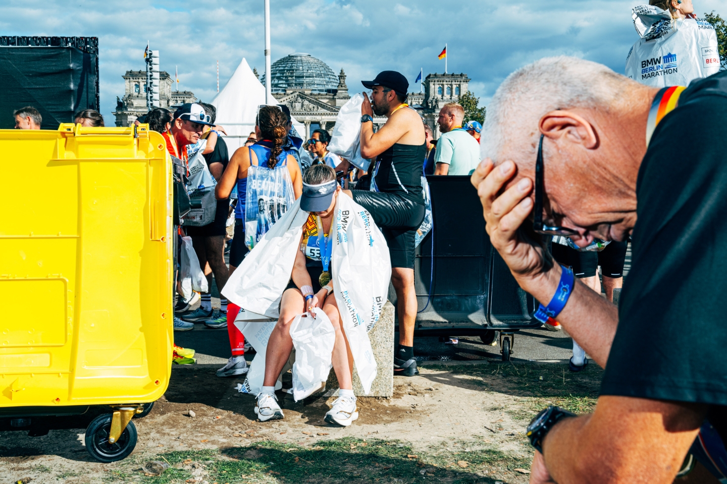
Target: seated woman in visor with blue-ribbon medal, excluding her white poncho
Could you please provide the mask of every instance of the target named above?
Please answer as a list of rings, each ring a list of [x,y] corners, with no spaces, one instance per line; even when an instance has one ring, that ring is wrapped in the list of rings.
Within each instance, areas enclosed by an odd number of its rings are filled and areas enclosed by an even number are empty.
[[[326,414],[326,422],[348,427],[358,419],[356,396],[353,395],[353,356],[341,327],[341,315],[336,298],[332,295],[333,282],[329,272],[333,241],[328,234],[340,193],[333,168],[319,164],[311,166],[305,172],[300,208],[310,212],[310,215],[303,225],[300,250],[295,257],[291,281],[280,303],[278,324],[268,340],[265,381],[262,383],[262,391],[257,395],[255,407],[260,422],[284,417],[278,406],[275,385],[293,348],[290,324],[295,316],[306,311],[312,313],[313,308],[323,309],[336,332],[332,364],[340,385],[340,396]]]

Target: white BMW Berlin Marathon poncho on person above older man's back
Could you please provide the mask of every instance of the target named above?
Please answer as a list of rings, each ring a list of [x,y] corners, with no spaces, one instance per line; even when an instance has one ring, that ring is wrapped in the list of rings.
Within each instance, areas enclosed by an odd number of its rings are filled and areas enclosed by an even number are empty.
[[[717,33],[707,20],[672,19],[652,5],[633,9],[640,39],[626,57],[628,78],[647,86],[688,86],[720,70]]]

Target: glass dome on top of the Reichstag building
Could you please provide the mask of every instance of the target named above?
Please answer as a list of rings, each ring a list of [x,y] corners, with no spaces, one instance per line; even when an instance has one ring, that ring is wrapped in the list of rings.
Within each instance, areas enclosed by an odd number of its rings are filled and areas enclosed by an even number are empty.
[[[312,93],[324,94],[332,92],[338,86],[338,77],[331,67],[322,60],[302,52],[295,52],[276,60],[270,66],[270,72],[273,73],[273,83],[270,86],[273,92],[310,89]],[[260,77],[263,86],[265,75]]]

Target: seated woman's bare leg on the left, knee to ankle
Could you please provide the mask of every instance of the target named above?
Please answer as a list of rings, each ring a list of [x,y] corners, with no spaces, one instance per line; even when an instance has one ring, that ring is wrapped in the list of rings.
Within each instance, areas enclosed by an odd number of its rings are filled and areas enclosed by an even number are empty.
[[[305,299],[300,290],[289,289],[283,293],[280,305],[278,324],[270,333],[268,350],[265,353],[264,387],[273,387],[293,350],[293,339],[290,337],[290,324],[300,313],[305,312]]]

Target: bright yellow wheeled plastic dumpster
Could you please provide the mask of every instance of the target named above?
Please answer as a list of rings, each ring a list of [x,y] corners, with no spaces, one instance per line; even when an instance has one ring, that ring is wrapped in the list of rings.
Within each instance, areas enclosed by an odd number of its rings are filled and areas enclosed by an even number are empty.
[[[0,417],[82,414],[102,462],[169,384],[172,162],[147,125],[0,130]]]

